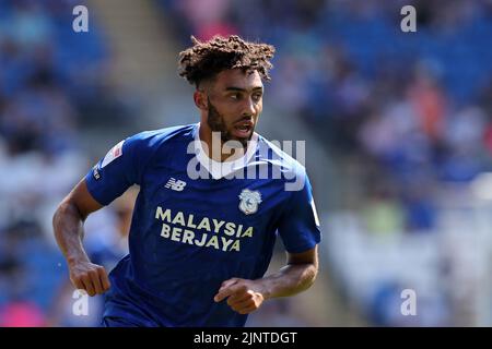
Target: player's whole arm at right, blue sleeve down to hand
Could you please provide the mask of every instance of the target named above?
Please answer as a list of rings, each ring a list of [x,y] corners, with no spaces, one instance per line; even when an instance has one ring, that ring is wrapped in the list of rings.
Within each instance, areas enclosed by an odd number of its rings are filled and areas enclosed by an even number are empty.
[[[279,236],[288,251],[286,265],[260,279],[232,278],[224,281],[214,297],[215,302],[227,299],[234,311],[248,314],[267,299],[296,294],[315,281],[318,273],[319,219],[309,179],[305,171],[300,176],[304,179],[304,185],[292,192],[278,225]]]

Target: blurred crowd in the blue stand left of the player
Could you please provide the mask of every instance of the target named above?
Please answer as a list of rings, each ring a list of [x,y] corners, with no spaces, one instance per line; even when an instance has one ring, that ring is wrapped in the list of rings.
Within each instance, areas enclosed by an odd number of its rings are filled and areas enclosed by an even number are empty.
[[[0,326],[72,318],[57,312],[68,273],[51,217],[91,166],[81,128],[113,103],[106,44],[96,25],[84,36],[72,31],[72,7],[0,0]],[[119,236],[119,220],[116,212],[92,219],[89,229],[102,234],[92,245],[89,239],[91,253],[108,248],[104,237]]]

